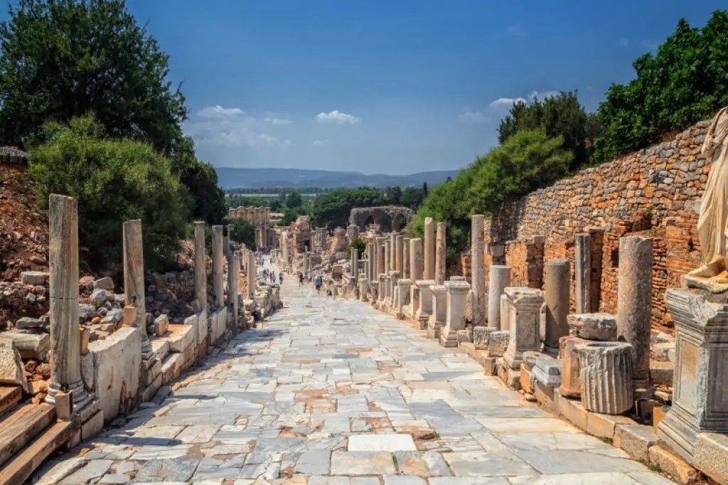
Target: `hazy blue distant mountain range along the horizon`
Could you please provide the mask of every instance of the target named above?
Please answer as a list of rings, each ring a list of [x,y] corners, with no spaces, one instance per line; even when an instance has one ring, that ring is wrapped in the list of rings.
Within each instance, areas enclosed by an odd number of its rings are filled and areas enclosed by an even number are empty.
[[[216,167],[218,181],[223,189],[274,189],[277,187],[337,187],[360,186],[419,186],[427,182],[434,186],[455,177],[459,170],[412,173],[407,176],[384,174],[365,175],[360,172],[334,172],[329,170],[302,170],[299,168],[233,168]]]

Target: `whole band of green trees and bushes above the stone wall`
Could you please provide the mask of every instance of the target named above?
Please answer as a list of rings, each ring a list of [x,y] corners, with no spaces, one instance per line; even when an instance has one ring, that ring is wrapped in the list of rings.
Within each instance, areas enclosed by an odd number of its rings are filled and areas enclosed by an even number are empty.
[[[504,202],[712,117],[728,105],[728,11],[713,12],[703,28],[680,20],[633,68],[636,78],[612,84],[596,113],[576,91],[513,104],[499,146],[434,187],[408,230],[421,237],[425,217],[448,223],[452,261],[467,248],[472,214],[497,213]]]

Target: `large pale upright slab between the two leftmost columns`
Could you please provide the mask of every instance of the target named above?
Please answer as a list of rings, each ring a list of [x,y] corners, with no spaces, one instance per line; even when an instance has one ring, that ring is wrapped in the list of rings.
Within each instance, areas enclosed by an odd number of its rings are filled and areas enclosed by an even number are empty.
[[[94,389],[103,418],[111,422],[134,403],[139,387],[141,331],[125,327],[89,344],[94,361]]]

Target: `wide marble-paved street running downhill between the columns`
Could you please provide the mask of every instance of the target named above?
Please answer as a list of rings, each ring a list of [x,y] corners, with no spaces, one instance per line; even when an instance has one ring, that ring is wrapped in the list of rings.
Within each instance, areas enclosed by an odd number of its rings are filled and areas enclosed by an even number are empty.
[[[284,282],[285,307],[52,484],[671,484],[357,301]],[[60,478],[63,477],[63,478]],[[60,478],[60,481],[59,481]]]

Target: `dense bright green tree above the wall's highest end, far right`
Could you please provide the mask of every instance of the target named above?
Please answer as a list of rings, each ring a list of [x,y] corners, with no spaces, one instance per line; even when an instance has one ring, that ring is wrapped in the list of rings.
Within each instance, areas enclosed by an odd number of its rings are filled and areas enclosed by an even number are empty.
[[[596,161],[645,148],[664,133],[682,130],[728,104],[728,11],[703,28],[678,21],[676,30],[632,66],[636,79],[612,84],[599,105],[604,136]]]

